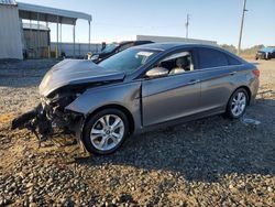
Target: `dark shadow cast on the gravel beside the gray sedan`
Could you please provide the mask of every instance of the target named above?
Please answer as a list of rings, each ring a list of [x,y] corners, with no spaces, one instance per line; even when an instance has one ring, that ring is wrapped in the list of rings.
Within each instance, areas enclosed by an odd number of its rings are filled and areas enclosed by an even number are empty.
[[[275,100],[258,99],[249,108],[248,118],[257,110],[262,110],[258,111],[260,119],[264,113],[270,115],[271,119],[261,119],[260,126],[217,116],[132,137],[112,155],[77,162],[88,166],[107,163],[145,171],[169,171],[189,181],[204,182],[216,182],[231,173],[274,175],[275,110],[272,106]]]

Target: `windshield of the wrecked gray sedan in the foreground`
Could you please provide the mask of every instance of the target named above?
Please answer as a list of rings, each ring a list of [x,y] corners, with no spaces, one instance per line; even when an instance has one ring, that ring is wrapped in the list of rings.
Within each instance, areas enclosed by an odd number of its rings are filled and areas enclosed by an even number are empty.
[[[131,73],[148,62],[157,51],[129,48],[99,63],[106,69]]]

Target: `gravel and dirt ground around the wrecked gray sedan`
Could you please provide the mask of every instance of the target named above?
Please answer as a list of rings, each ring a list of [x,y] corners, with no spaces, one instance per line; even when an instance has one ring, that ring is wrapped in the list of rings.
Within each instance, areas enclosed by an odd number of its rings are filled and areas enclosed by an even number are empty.
[[[275,206],[275,61],[255,62],[261,87],[244,118],[260,124],[216,116],[79,159],[68,135],[38,149],[9,129],[55,63],[0,64],[0,206]]]

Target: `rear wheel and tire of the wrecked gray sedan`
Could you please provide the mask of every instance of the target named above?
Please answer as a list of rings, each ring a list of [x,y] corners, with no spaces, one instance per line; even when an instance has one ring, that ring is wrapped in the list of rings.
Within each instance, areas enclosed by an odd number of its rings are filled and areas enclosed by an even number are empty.
[[[240,96],[240,97],[239,97]],[[244,88],[237,89],[230,97],[227,105],[227,116],[231,119],[241,118],[249,103],[249,95]]]

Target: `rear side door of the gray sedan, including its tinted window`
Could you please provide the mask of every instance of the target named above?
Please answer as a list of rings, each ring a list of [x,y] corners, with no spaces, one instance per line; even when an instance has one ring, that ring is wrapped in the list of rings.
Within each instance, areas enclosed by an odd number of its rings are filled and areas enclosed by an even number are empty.
[[[198,48],[199,59],[198,69],[201,77],[201,111],[220,111],[227,106],[227,102],[234,88],[235,76],[238,75],[238,59],[235,65],[230,65],[226,53],[213,48]]]

